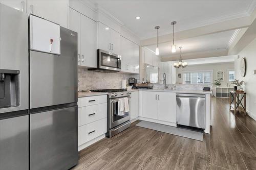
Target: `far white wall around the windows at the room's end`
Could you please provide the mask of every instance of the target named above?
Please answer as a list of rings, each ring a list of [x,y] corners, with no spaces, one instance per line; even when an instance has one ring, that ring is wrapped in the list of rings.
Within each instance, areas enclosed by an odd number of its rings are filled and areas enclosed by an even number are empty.
[[[224,71],[224,81],[221,81],[221,87],[227,87],[229,83],[230,87],[233,85],[228,82],[228,70],[234,69],[234,63],[214,63],[214,64],[200,64],[200,65],[189,65],[185,68],[178,68],[176,71],[176,76],[178,73],[182,74],[181,78],[177,77],[177,83],[183,83],[183,71],[201,71],[201,70],[213,70],[213,81],[217,80],[217,71]]]

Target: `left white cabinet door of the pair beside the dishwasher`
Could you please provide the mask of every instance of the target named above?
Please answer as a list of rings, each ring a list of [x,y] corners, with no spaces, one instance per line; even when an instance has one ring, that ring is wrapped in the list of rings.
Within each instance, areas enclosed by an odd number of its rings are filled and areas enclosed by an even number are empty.
[[[142,91],[142,117],[158,119],[157,92]]]

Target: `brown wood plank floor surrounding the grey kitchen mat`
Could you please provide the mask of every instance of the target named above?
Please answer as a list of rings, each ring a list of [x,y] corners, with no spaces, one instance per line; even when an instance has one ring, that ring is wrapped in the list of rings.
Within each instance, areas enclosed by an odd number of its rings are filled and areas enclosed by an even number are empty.
[[[256,121],[212,98],[212,127],[203,141],[135,126],[79,152],[81,169],[256,169]]]

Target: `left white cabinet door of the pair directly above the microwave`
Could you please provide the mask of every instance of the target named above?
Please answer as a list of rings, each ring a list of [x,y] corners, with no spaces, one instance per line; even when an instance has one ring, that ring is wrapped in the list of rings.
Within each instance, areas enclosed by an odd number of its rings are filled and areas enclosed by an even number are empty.
[[[111,52],[111,28],[98,22],[98,48]]]

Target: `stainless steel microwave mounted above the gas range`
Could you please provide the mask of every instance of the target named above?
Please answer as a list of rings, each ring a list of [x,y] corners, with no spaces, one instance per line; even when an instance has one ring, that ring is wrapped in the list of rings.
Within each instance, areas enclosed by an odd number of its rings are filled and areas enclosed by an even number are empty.
[[[121,71],[122,57],[104,50],[97,50],[97,68],[88,70],[101,72],[118,72]]]

